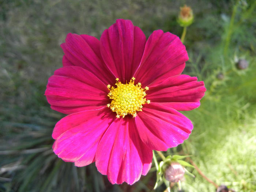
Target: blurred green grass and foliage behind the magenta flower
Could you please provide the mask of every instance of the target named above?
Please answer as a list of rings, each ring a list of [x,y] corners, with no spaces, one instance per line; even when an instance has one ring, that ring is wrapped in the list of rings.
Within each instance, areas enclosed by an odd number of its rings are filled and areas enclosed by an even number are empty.
[[[218,185],[256,191],[255,0],[0,0],[0,192],[153,190],[154,163],[130,186],[111,185],[94,163],[75,167],[57,158],[51,134],[64,114],[50,109],[44,91],[62,66],[60,44],[67,33],[100,38],[123,18],[147,37],[157,29],[181,37],[176,19],[185,4],[195,20],[184,41],[184,74],[204,80],[207,91],[199,108],[182,112],[194,124],[191,136],[165,155],[192,155]],[[248,67],[238,69],[239,59]],[[183,191],[215,191],[197,170],[188,170],[196,177],[185,177]]]

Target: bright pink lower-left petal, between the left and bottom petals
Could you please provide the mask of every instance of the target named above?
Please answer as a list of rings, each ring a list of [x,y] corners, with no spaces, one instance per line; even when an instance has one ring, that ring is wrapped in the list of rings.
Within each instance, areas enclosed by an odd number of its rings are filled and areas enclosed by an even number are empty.
[[[108,108],[73,113],[54,127],[53,151],[64,161],[85,166],[95,161],[98,143],[115,119]]]

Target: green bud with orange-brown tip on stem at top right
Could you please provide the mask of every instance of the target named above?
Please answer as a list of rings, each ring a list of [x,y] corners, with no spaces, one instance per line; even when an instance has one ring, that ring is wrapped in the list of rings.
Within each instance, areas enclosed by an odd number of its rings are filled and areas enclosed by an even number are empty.
[[[187,5],[184,5],[184,7],[180,7],[180,14],[178,16],[178,23],[181,27],[187,27],[193,23],[194,16],[193,11],[190,7],[187,7]]]

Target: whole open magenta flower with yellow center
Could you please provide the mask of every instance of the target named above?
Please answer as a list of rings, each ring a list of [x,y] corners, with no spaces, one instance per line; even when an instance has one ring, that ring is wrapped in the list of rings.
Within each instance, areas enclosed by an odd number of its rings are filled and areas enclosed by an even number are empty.
[[[180,75],[185,46],[169,32],[148,40],[130,20],[118,19],[100,40],[68,34],[63,67],[49,78],[51,108],[69,114],[54,127],[53,151],[75,166],[96,163],[114,184],[133,184],[151,167],[152,150],[183,143],[193,125],[177,110],[200,105],[206,91]]]

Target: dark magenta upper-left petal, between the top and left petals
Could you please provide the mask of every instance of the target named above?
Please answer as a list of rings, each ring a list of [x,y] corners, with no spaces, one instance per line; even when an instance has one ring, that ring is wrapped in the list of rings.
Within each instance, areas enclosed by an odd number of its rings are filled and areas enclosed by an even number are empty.
[[[69,33],[61,48],[65,54],[63,66],[75,65],[87,69],[106,85],[115,82],[115,77],[102,60],[97,38]]]

